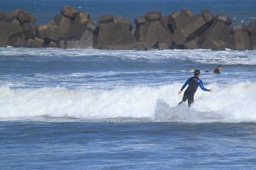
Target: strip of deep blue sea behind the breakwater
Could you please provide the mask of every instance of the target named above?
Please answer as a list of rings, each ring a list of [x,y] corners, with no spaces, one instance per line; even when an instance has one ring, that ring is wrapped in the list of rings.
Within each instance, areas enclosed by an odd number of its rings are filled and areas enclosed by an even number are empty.
[[[213,15],[226,14],[233,24],[248,24],[256,19],[256,1],[252,0],[0,0],[0,11],[10,12],[15,8],[28,10],[36,17],[36,24],[47,24],[60,13],[63,5],[72,5],[77,10],[85,10],[97,20],[99,15],[113,13],[122,15],[133,22],[148,10],[159,10],[169,15],[174,10],[189,8],[198,13],[207,8]]]

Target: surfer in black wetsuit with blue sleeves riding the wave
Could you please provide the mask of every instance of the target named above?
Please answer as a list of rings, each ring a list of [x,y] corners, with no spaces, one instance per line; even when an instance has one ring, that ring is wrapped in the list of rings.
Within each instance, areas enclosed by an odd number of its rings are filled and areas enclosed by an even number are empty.
[[[185,87],[188,85],[188,88],[186,89],[186,91],[184,92],[184,96],[182,98],[182,101],[179,103],[182,104],[183,102],[188,100],[188,106],[190,108],[191,104],[194,103],[194,95],[196,90],[198,89],[198,86],[200,86],[200,88],[202,90],[204,90],[205,92],[211,92],[212,89],[205,89],[204,85],[203,85],[203,81],[200,80],[199,75],[200,75],[200,71],[198,69],[196,69],[194,71],[194,75],[193,77],[189,78],[186,83],[184,83],[184,85],[182,86],[182,88],[179,91],[179,94],[182,94],[182,90],[185,89]]]

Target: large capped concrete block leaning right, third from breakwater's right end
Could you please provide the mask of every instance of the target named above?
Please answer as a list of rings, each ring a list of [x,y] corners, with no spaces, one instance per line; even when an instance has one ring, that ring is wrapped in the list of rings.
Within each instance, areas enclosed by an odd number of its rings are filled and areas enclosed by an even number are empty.
[[[230,41],[229,26],[231,23],[232,20],[225,15],[216,15],[214,24],[202,34],[198,41],[200,48],[216,48],[214,42],[219,40],[222,40],[227,45],[226,47],[228,47]]]

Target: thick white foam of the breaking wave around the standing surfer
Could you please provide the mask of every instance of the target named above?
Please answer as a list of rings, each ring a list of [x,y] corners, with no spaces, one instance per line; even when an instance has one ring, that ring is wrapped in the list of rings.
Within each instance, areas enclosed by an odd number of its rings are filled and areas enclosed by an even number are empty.
[[[198,89],[191,109],[177,108],[180,83],[114,90],[70,90],[60,87],[0,87],[0,120],[33,117],[102,120],[141,118],[161,122],[256,122],[256,83],[216,84],[213,92]]]

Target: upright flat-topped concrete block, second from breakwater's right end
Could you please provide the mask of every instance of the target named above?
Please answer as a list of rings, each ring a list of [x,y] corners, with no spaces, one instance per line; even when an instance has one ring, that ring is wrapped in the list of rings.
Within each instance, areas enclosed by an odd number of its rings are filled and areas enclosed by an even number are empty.
[[[236,25],[230,30],[230,49],[250,50],[251,40],[245,25]]]

